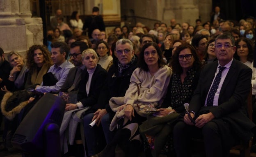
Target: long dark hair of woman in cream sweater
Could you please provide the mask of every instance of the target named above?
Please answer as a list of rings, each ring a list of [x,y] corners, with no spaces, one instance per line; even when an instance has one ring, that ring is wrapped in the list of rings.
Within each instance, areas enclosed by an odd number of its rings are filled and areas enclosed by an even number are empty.
[[[149,67],[148,65],[146,64],[145,60],[144,60],[144,51],[146,48],[148,48],[149,46],[154,46],[157,53],[158,53],[158,56],[159,56],[159,59],[158,59],[158,66],[159,67],[162,67],[165,65],[165,61],[163,60],[163,53],[161,51],[161,49],[159,48],[158,44],[156,44],[155,42],[148,42],[146,43],[143,47],[142,47],[142,50],[140,51],[139,53],[139,62],[138,62],[138,66],[140,68],[142,68],[144,71],[149,71]]]

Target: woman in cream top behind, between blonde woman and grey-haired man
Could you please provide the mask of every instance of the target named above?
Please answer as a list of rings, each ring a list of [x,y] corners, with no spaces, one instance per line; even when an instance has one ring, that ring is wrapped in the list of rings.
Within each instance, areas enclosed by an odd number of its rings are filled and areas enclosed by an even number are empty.
[[[113,58],[110,55],[110,49],[108,47],[107,42],[99,41],[96,44],[96,51],[99,55],[98,64],[100,64],[104,69],[108,71],[110,66],[113,64]]]

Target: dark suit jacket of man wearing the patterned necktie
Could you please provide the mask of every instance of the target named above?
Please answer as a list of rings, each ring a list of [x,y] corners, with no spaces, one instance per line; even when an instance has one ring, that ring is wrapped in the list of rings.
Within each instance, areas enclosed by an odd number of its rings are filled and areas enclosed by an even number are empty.
[[[215,61],[203,67],[198,86],[190,102],[191,111],[197,113],[204,106],[217,66],[218,61]],[[233,59],[219,93],[219,106],[210,110],[216,118],[225,116],[246,106],[245,100],[251,88],[251,75],[252,71],[248,66]]]

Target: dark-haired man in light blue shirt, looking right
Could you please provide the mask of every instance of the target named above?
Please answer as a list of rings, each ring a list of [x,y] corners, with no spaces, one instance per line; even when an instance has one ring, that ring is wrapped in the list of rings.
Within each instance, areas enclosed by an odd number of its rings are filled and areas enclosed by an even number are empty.
[[[69,46],[65,42],[53,42],[51,44],[51,59],[53,60],[53,66],[48,70],[48,76],[52,73],[54,80],[57,80],[57,83],[51,86],[44,85],[46,82],[42,82],[41,86],[35,88],[36,91],[41,93],[55,93],[58,92],[69,73],[69,70],[74,67],[74,65],[67,61],[69,55]],[[47,80],[48,82],[51,82]]]

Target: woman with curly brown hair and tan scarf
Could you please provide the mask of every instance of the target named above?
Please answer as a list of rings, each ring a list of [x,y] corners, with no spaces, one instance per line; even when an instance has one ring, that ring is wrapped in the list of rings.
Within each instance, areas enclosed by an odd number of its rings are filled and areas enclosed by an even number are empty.
[[[50,52],[44,45],[33,45],[29,48],[26,55],[26,66],[29,69],[25,88],[41,84],[43,75],[47,73],[53,62],[50,58]]]

